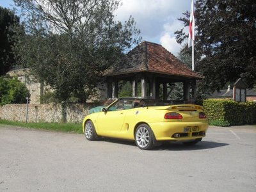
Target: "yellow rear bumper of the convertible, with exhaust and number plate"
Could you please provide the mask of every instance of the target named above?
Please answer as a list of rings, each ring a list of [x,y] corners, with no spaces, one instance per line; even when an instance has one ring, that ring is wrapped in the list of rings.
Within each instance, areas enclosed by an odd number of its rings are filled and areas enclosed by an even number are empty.
[[[149,124],[157,141],[194,140],[205,137],[207,122],[156,122]]]

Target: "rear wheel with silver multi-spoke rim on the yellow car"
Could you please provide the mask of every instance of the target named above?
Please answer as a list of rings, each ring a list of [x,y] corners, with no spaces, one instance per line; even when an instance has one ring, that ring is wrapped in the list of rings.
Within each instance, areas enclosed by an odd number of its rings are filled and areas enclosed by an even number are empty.
[[[154,133],[147,124],[141,124],[135,131],[135,143],[142,150],[150,150],[154,147]]]

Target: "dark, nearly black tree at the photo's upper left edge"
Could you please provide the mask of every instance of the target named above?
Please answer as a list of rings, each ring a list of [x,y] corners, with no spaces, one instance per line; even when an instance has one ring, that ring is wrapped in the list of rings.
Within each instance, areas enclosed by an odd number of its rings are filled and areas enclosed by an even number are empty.
[[[12,53],[11,40],[13,35],[10,27],[19,23],[17,17],[11,10],[0,6],[0,76],[6,74],[15,64],[15,59]]]

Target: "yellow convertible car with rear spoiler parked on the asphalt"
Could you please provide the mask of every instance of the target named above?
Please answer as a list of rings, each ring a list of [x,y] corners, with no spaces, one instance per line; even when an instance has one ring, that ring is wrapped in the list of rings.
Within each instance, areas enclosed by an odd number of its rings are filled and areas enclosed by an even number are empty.
[[[120,98],[107,108],[87,115],[83,131],[87,140],[98,137],[135,140],[148,150],[163,141],[195,145],[205,137],[208,124],[202,106],[180,104],[164,106],[157,100]]]

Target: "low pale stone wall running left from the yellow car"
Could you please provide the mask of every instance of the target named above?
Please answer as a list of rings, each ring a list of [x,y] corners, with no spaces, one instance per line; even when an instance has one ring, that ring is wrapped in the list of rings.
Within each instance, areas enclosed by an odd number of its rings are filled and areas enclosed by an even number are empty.
[[[96,104],[97,105],[97,104]],[[64,108],[67,122],[83,122],[89,109],[95,104],[67,104]],[[26,104],[7,104],[0,106],[0,119],[26,122]],[[61,104],[29,104],[28,122],[61,122],[63,110]]]

